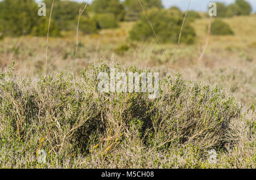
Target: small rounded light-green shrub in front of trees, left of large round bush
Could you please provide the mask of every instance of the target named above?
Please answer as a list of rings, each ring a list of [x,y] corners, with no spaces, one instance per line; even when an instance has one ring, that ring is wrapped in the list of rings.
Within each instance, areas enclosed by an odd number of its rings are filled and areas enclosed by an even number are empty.
[[[117,20],[113,14],[96,14],[93,18],[99,29],[117,28]]]

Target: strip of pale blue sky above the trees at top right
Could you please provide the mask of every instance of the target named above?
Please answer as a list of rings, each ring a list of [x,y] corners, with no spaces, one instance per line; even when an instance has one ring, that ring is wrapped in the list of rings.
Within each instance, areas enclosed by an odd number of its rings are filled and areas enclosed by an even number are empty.
[[[39,1],[39,0],[38,0]],[[92,2],[93,0],[72,0],[77,2]],[[106,0],[108,1],[108,0]],[[122,1],[122,0],[121,0]],[[246,0],[251,4],[251,7],[253,7],[253,11],[256,11],[256,0]],[[162,0],[164,7],[168,8],[171,6],[178,6],[181,8],[181,10],[186,10],[188,6],[189,0]],[[235,0],[220,0],[220,1],[214,1],[214,0],[191,0],[190,9],[196,10],[196,11],[207,11],[209,2],[224,2],[227,5],[230,3],[234,3]]]

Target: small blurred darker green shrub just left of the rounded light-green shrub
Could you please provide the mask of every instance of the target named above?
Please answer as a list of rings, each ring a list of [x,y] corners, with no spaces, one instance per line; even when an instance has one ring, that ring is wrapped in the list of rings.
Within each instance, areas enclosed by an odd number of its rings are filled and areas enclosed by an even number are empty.
[[[78,18],[77,18],[78,20]],[[76,20],[76,22],[77,22]],[[79,29],[85,35],[91,33],[97,33],[97,22],[93,18],[86,18],[85,16],[80,17]]]

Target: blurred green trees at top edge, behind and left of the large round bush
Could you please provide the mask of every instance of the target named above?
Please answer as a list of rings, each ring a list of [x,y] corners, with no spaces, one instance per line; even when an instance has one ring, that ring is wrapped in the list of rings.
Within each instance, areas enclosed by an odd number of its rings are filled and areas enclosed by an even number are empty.
[[[141,0],[141,4],[144,10],[150,8],[163,8],[161,0]],[[125,0],[123,5],[126,8],[126,20],[135,21],[138,20],[142,13],[142,7],[137,0]]]

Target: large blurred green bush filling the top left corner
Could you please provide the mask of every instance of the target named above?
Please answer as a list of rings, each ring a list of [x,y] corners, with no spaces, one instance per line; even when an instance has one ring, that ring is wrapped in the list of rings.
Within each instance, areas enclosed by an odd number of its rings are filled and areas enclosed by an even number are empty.
[[[47,35],[48,19],[38,16],[34,0],[4,0],[0,2],[0,22],[7,36]],[[59,36],[59,28],[52,20],[50,36]]]

